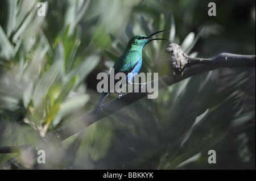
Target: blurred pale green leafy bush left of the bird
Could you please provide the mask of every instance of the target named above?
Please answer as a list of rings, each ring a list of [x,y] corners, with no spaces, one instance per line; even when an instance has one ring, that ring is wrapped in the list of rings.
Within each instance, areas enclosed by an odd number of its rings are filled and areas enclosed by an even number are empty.
[[[90,39],[81,41],[82,33],[92,35],[93,32],[77,26],[79,22],[90,21],[81,20],[89,1],[46,2],[47,18],[37,15],[35,1],[32,4],[30,1],[1,3],[7,10],[2,20],[11,15],[8,24],[1,25],[4,41],[1,45],[7,44],[1,49],[1,79],[4,80],[1,82],[1,110],[22,111],[24,121],[43,137],[48,127],[54,128],[89,100],[82,81],[100,57],[96,52],[85,54],[79,49],[86,49],[90,42]]]

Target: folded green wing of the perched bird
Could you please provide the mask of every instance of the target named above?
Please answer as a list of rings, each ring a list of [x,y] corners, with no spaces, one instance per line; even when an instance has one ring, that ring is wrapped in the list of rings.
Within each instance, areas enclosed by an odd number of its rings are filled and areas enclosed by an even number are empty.
[[[140,57],[141,56],[139,55],[138,51],[136,50],[129,51],[125,54],[122,54],[122,56],[118,58],[113,68],[115,69],[115,71],[128,74],[138,64]]]

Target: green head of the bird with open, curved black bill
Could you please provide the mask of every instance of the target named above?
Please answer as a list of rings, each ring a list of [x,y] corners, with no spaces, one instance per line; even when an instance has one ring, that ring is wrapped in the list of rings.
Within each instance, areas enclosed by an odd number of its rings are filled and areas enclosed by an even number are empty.
[[[127,47],[142,49],[148,42],[150,42],[152,40],[168,40],[168,39],[149,39],[151,36],[155,35],[156,33],[160,33],[163,31],[168,31],[168,30],[157,31],[148,36],[145,36],[145,35],[134,36],[133,38],[130,39]],[[170,40],[168,40],[168,41],[170,41]]]

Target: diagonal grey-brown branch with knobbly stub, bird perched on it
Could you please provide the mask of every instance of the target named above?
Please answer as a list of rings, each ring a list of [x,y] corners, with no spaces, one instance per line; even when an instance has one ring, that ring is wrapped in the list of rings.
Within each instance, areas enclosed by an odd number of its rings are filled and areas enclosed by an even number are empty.
[[[180,82],[193,75],[203,73],[205,71],[214,70],[217,68],[255,68],[255,55],[239,55],[230,53],[221,53],[212,58],[191,58],[185,54],[179,45],[170,44],[167,48],[167,52],[171,54],[170,60],[167,60],[167,64],[170,67],[168,75],[156,79],[152,82],[148,82],[143,87],[139,87],[139,92],[128,92],[116,98],[108,103],[105,103],[100,107],[97,113],[92,110],[85,113],[71,123],[57,129],[56,131],[47,134],[46,137],[42,138],[35,144],[31,145],[26,151],[18,154],[16,157],[11,158],[9,161],[4,163],[2,169],[15,169],[20,166],[20,161],[25,160],[26,162],[31,161],[37,156],[37,150],[45,149],[50,142],[61,142],[68,137],[80,132],[82,129],[95,123],[96,121],[111,115],[112,113],[126,107],[139,99],[144,98],[148,95],[146,90],[147,86],[151,84],[156,85],[158,83],[158,90],[164,87],[173,85],[174,83]],[[22,159],[20,159],[22,157]]]

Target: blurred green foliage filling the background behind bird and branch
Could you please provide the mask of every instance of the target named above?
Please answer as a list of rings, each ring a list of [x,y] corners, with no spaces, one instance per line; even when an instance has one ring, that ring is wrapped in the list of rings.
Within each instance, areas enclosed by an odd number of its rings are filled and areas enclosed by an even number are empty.
[[[171,30],[192,57],[255,54],[255,1],[0,1],[0,146],[25,145],[92,110],[97,74],[133,35]],[[141,72],[168,72],[167,41]],[[117,97],[110,95],[108,100]],[[208,163],[215,150],[217,163]],[[0,154],[0,164],[15,154]],[[90,125],[28,169],[255,169],[255,68],[185,79]]]

